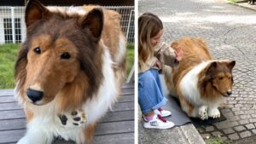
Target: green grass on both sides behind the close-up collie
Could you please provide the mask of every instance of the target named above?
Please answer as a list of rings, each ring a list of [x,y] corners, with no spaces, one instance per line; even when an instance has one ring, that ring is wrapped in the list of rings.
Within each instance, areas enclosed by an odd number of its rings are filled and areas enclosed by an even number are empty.
[[[14,68],[19,44],[0,45],[0,89],[15,88]],[[134,44],[127,44],[127,76],[134,63]]]

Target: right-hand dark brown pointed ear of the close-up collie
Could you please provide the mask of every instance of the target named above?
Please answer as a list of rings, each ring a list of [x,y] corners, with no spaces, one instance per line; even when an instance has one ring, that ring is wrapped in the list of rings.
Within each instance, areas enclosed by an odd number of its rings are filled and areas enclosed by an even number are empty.
[[[94,37],[100,39],[103,29],[103,19],[104,16],[102,9],[92,9],[81,20],[79,20],[79,26],[83,29],[88,28]]]

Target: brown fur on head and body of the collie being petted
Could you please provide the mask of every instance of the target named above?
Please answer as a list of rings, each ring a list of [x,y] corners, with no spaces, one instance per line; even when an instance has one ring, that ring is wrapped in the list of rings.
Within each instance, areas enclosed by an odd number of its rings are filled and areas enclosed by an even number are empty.
[[[177,95],[182,107],[186,106],[186,112],[191,116],[195,107],[182,95],[179,84],[190,70],[199,65],[201,61],[212,60],[212,56],[207,49],[206,42],[201,38],[183,37],[173,42],[172,48],[183,50],[183,60],[180,61],[177,69],[172,68],[172,74],[164,70],[166,85],[172,95]],[[201,92],[201,99],[217,101],[220,95],[227,96],[227,91],[232,89],[231,70],[235,64],[236,61],[217,60],[199,73],[198,88]]]

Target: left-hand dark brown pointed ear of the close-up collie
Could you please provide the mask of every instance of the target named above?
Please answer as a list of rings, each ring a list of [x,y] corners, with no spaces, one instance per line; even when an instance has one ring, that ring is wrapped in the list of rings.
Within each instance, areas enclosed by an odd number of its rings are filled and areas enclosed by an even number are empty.
[[[26,4],[25,22],[26,26],[30,26],[37,20],[42,20],[49,10],[44,7],[38,0],[29,0]]]

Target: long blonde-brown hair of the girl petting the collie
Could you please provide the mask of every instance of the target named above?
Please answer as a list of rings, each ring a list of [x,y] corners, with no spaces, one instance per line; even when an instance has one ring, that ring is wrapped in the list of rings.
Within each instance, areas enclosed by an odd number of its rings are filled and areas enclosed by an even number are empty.
[[[163,23],[158,16],[144,13],[138,19],[138,55],[139,59],[146,61],[149,55],[154,55],[150,38],[163,29]]]

